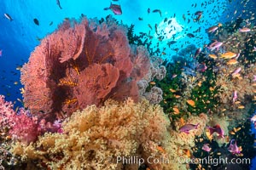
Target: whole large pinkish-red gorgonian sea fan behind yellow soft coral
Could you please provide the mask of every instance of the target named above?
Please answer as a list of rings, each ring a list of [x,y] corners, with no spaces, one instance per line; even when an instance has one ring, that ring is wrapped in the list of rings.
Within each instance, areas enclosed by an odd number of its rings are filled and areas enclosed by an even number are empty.
[[[101,24],[85,17],[64,21],[21,69],[25,106],[54,120],[109,98],[137,101],[137,81],[148,73],[149,54],[131,47],[126,34],[127,27],[111,17]]]

